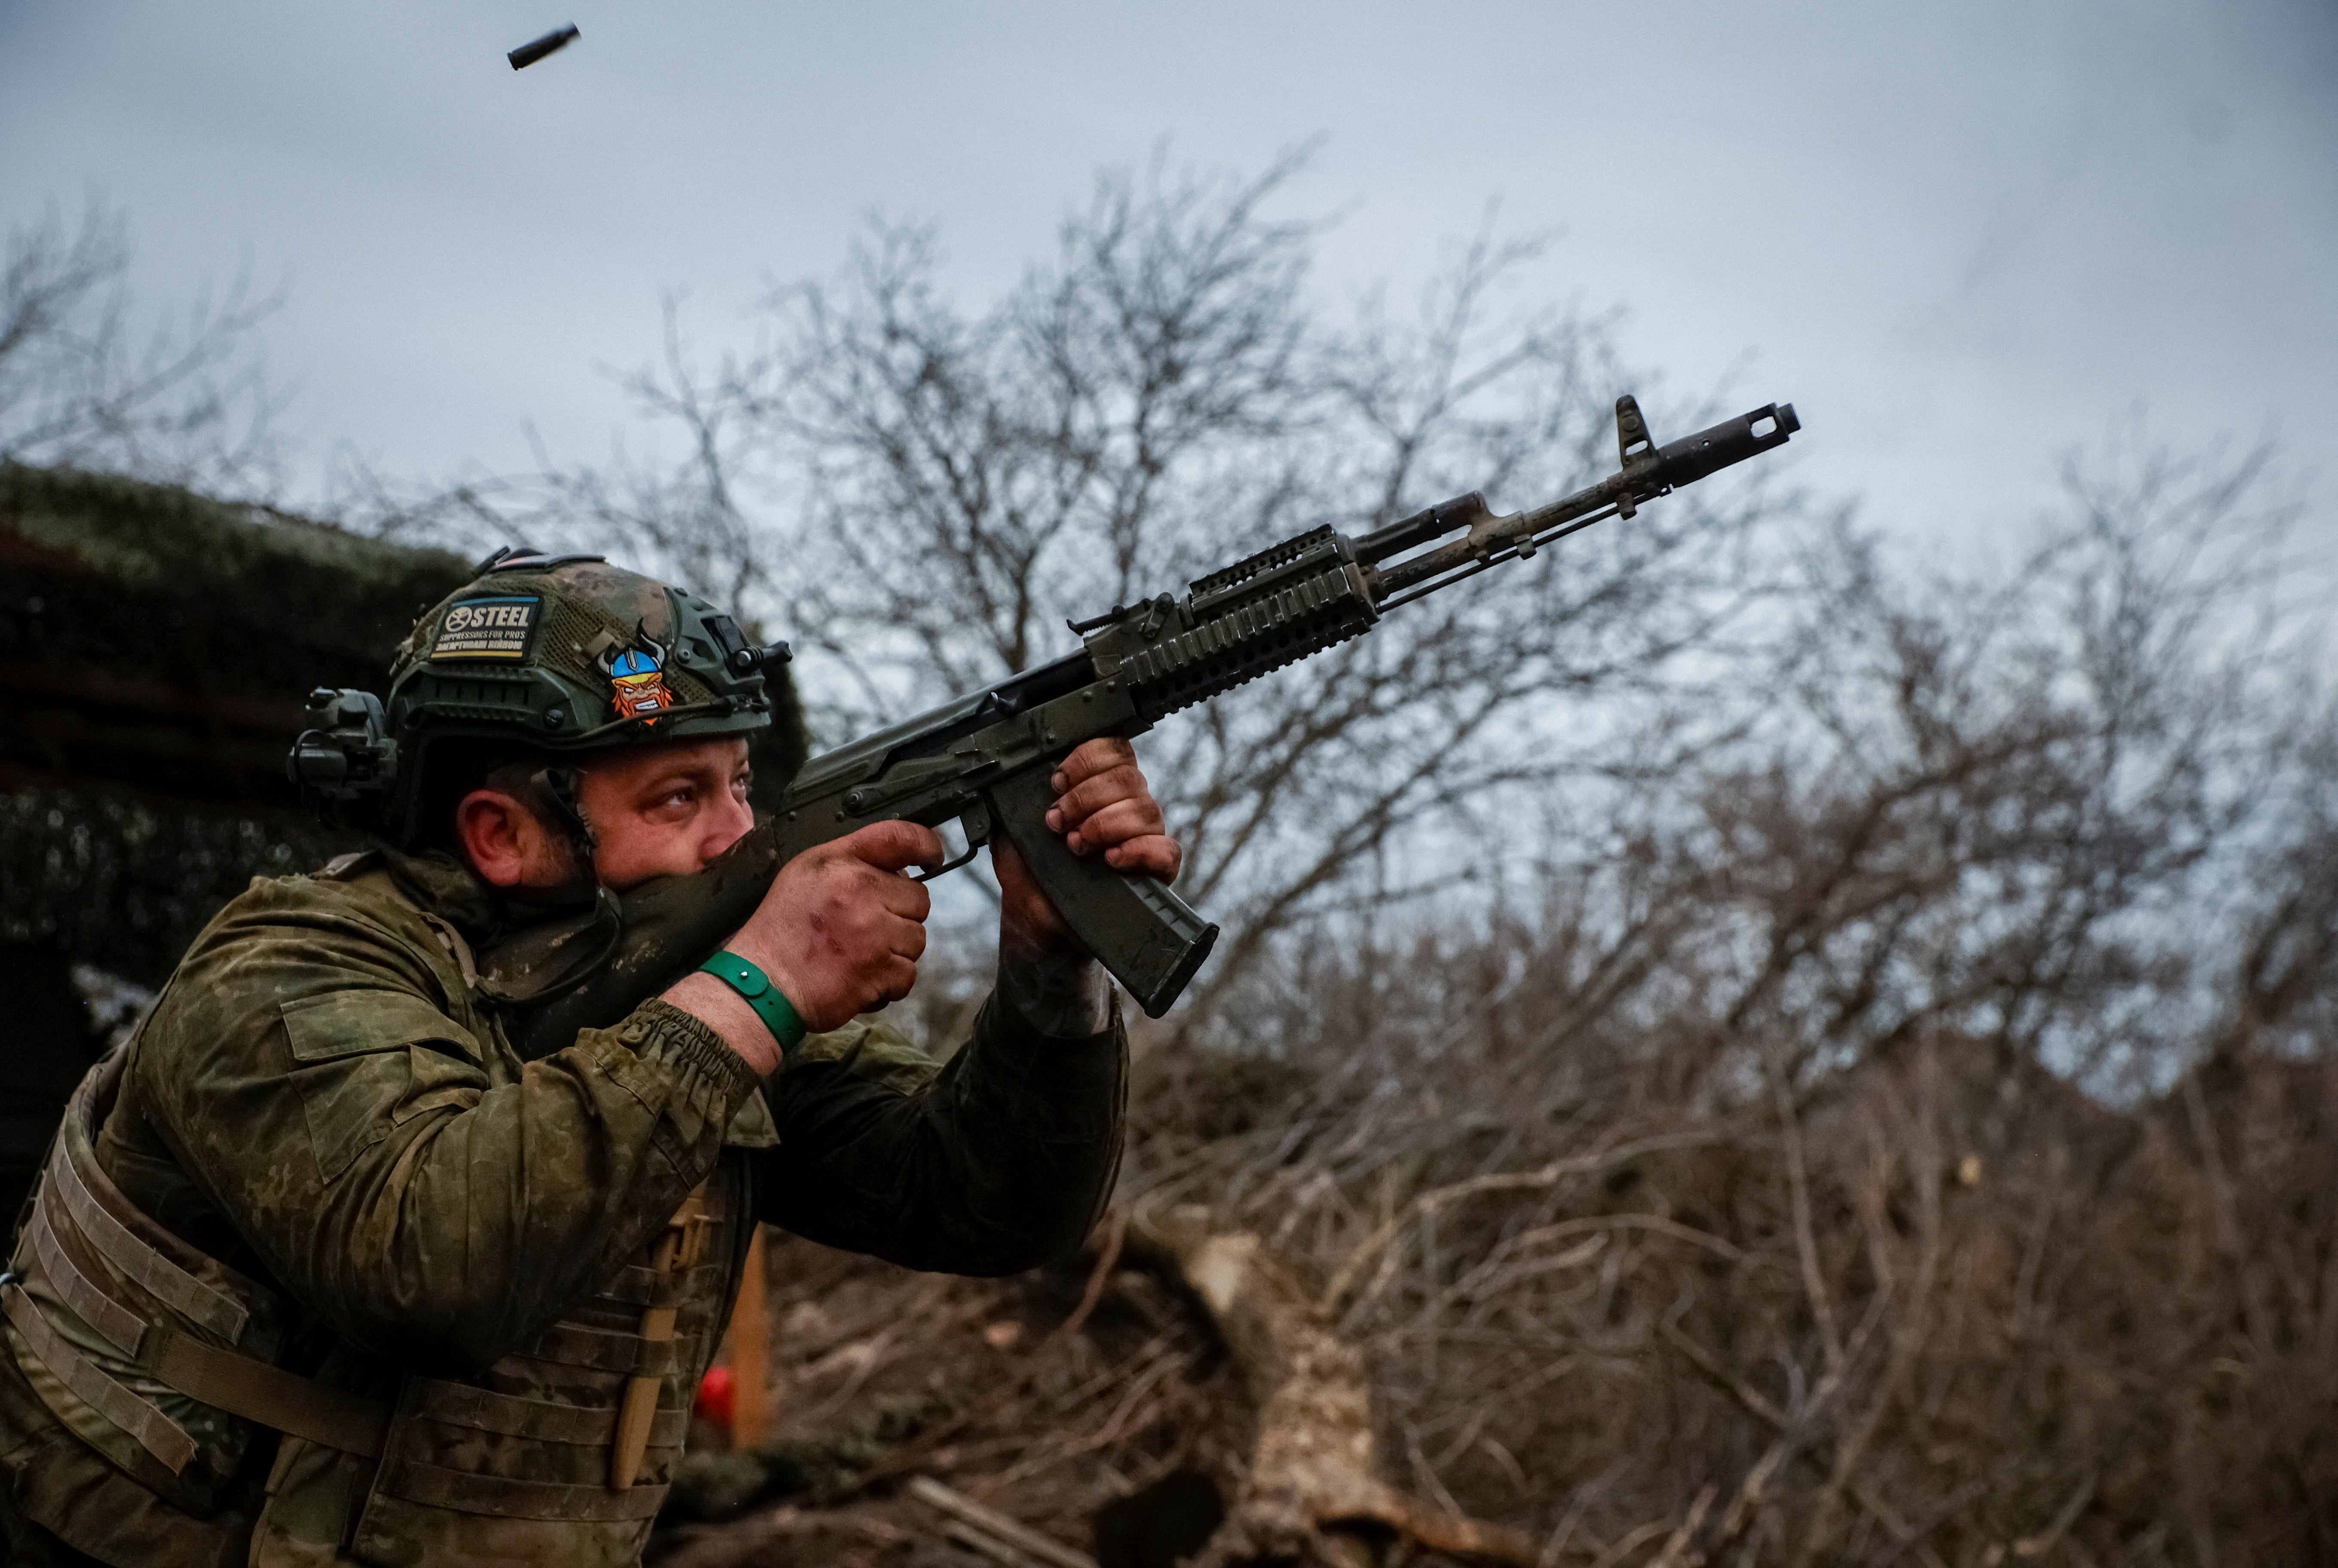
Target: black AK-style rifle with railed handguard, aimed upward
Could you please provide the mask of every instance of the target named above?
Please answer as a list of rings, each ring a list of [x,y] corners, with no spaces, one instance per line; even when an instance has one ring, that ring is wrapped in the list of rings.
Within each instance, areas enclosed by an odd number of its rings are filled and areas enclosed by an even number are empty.
[[[706,869],[627,893],[615,928],[552,928],[489,953],[507,993],[545,998],[519,1019],[517,1045],[535,1056],[624,1017],[720,949],[781,865],[888,818],[963,827],[966,853],[928,879],[1005,837],[1073,935],[1160,1017],[1202,967],[1218,928],[1167,886],[1122,876],[1101,855],[1073,855],[1047,830],[1047,778],[1066,752],[1097,736],[1143,734],[1181,708],[1361,638],[1400,605],[1524,561],[1602,519],[1632,516],[1658,495],[1784,446],[1796,430],[1793,404],[1765,404],[1658,446],[1639,404],[1618,397],[1623,465],[1548,507],[1494,516],[1473,491],[1361,537],[1314,528],[1195,580],[1183,598],[1162,594],[1071,622],[1080,652],[807,762],[781,806]],[[606,958],[577,965],[584,949]],[[575,984],[552,981],[552,972],[580,970]]]

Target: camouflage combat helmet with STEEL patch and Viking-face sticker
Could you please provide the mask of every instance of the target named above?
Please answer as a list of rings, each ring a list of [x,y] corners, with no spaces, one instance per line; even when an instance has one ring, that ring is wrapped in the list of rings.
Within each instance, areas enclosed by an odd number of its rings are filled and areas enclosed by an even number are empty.
[[[339,820],[414,844],[435,773],[482,750],[587,755],[748,736],[772,722],[755,647],[704,598],[603,556],[505,547],[414,622],[388,701],[318,689],[285,771]],[[573,776],[554,769],[556,797]]]

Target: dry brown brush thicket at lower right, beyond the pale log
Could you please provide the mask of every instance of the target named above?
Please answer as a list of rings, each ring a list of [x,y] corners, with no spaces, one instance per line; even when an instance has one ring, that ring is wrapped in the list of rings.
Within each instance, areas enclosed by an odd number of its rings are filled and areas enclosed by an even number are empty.
[[[2116,1115],[1929,1038],[1543,1150],[1391,1105],[1241,1210],[1375,1358],[1393,1477],[1548,1561],[2315,1561],[2333,1094],[2219,1061]]]

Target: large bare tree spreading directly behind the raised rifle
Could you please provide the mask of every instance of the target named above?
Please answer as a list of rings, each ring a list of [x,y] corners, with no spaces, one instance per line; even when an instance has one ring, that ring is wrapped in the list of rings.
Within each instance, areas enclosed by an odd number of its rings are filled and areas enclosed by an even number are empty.
[[[669,301],[666,355],[629,386],[685,456],[549,470],[505,516],[622,535],[746,596],[797,640],[839,741],[1316,523],[1468,488],[1534,505],[1613,467],[1611,322],[1501,304],[1541,243],[1480,236],[1414,308],[1372,294],[1340,318],[1309,285],[1321,227],[1272,215],[1295,166],[1106,173],[984,308],[900,224],[837,285],[774,292],[762,341],[713,365]],[[1517,802],[1742,724],[1744,703],[1669,696],[1711,689],[1756,626],[1777,584],[1761,526],[1791,507],[1758,486],[1651,507],[1169,720],[1148,766],[1188,895],[1230,930],[1197,1012],[1363,888],[1389,907],[1482,872]]]

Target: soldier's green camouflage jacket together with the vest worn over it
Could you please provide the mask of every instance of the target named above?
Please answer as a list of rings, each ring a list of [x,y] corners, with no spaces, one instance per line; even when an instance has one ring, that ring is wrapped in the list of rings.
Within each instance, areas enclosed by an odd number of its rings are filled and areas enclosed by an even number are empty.
[[[1005,1274],[1104,1203],[1118,1012],[1054,1040],[994,995],[942,1068],[860,1021],[758,1084],[652,1000],[521,1061],[475,988],[477,883],[426,872],[255,881],[84,1084],[0,1285],[19,1517],[122,1566],[631,1563],[748,1217]],[[171,1372],[222,1351],[360,1437]]]

